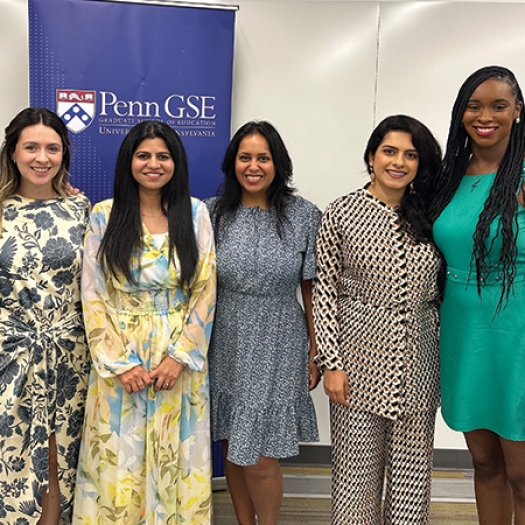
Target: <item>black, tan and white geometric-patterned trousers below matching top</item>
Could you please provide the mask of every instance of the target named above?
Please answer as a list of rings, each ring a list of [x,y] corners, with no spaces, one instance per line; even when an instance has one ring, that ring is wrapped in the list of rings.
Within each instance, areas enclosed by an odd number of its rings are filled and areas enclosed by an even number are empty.
[[[332,525],[428,524],[435,417],[394,421],[330,402]]]

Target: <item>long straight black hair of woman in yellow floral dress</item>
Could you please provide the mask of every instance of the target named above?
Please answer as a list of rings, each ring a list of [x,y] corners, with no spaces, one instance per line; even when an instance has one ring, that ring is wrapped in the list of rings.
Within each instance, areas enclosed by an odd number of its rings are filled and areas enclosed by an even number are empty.
[[[169,258],[176,251],[181,281],[189,284],[198,261],[193,227],[188,163],[177,133],[158,121],[144,121],[128,133],[118,153],[115,169],[113,207],[100,245],[99,257],[106,276],[124,274],[133,282],[131,258],[143,246],[138,183],[131,172],[133,154],[145,139],[161,138],[175,163],[175,173],[161,190],[161,206],[168,217]]]

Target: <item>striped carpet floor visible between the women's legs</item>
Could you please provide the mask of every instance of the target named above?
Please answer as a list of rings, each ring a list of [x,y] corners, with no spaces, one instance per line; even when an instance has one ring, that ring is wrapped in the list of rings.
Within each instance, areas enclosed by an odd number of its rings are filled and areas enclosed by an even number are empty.
[[[285,467],[279,525],[330,525],[330,471]],[[224,478],[213,480],[214,525],[237,523]],[[435,471],[431,525],[475,525],[471,471]]]

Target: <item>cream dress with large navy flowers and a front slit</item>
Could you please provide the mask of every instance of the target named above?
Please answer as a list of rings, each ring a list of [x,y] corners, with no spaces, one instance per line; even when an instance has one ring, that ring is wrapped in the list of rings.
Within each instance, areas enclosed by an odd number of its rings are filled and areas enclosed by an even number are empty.
[[[0,237],[0,524],[33,525],[56,435],[63,520],[73,499],[89,376],[80,304],[81,195],[3,203]]]

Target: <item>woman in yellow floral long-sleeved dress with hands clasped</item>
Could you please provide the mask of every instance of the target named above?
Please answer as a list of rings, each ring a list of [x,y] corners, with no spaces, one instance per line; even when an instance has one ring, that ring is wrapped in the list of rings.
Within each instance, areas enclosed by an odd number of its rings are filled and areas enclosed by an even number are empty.
[[[209,524],[215,252],[169,126],[131,129],[114,195],[93,208],[86,237],[93,366],[73,523]]]

